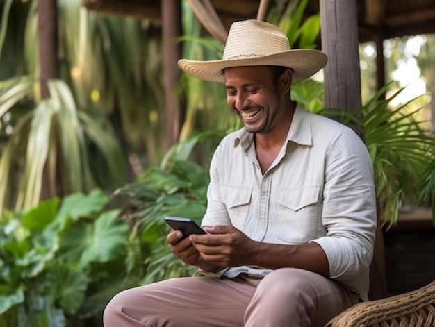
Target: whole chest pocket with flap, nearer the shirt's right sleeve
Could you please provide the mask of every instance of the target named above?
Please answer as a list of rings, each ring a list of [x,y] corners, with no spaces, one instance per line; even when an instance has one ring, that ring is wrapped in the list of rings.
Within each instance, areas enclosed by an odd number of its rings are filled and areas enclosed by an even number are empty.
[[[284,242],[305,243],[315,237],[320,187],[283,188],[279,192],[277,237]]]

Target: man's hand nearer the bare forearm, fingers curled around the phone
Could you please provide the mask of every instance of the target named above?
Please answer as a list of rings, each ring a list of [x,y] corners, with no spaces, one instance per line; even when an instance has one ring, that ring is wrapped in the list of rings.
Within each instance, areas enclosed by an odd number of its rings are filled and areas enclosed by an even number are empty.
[[[190,235],[188,239],[201,258],[220,267],[249,265],[255,249],[253,240],[233,226],[205,228],[206,235]]]

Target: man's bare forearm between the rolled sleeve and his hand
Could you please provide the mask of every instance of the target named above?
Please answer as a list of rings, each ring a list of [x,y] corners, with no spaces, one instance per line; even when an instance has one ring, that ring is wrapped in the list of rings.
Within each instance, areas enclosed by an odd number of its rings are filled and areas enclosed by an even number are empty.
[[[325,251],[313,242],[300,245],[255,242],[248,265],[269,269],[294,267],[329,276],[329,262]]]

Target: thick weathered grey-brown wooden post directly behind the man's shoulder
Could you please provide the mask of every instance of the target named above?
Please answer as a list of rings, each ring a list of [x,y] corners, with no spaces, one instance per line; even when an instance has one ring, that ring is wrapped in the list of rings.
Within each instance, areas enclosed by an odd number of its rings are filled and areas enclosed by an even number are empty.
[[[320,0],[322,50],[325,67],[325,107],[354,112],[361,107],[356,0]],[[359,126],[351,126],[363,139]],[[379,219],[378,219],[379,221]],[[375,252],[370,266],[370,299],[386,296],[384,238],[377,227]]]

